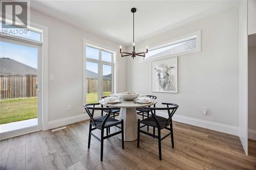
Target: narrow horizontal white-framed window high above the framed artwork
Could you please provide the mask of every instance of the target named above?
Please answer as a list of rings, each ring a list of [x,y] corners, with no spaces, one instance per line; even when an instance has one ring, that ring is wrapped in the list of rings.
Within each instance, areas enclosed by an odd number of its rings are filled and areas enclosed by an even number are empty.
[[[153,45],[141,61],[176,57],[201,51],[201,31],[178,37],[160,45]]]

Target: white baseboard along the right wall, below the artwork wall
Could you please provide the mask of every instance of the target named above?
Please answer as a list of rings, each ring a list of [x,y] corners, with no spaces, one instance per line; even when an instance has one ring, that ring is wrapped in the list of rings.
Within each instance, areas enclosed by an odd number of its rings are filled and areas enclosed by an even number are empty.
[[[167,117],[167,113],[165,112],[158,112],[157,114],[163,117]],[[173,120],[176,122],[181,122],[188,125],[194,125],[201,128],[206,128],[206,129],[215,130],[215,131],[238,136],[239,128],[236,126],[210,122],[207,120],[202,120],[202,119],[197,119],[197,118],[192,118],[192,117],[187,117],[187,116],[182,116],[177,114],[173,116]]]

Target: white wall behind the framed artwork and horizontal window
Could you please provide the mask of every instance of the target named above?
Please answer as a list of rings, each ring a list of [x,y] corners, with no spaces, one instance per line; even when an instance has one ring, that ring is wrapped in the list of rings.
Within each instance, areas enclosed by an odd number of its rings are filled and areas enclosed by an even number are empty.
[[[225,124],[237,130],[237,8],[136,43],[136,48],[140,49],[198,30],[202,30],[202,52],[178,58],[178,93],[151,92],[151,63],[139,63],[138,58],[127,58],[127,90],[154,94],[159,103],[176,103],[180,106],[177,115]],[[202,114],[203,107],[209,109],[207,115]]]

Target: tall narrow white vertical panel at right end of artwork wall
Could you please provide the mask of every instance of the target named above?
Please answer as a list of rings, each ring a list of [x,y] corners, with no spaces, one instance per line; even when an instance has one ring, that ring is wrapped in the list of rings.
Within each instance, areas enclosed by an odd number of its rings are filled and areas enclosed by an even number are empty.
[[[248,155],[248,1],[239,1],[239,138]]]

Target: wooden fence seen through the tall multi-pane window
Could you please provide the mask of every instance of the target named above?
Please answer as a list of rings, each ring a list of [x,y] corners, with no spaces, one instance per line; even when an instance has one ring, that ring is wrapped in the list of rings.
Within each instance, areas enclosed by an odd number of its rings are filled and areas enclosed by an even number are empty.
[[[103,80],[103,91],[112,91],[112,81]],[[98,92],[98,79],[87,78],[87,93]]]

